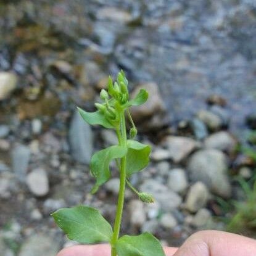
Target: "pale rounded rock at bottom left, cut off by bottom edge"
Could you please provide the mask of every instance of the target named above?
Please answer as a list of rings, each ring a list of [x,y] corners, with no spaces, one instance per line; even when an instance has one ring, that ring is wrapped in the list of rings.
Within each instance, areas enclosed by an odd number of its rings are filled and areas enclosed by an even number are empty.
[[[50,237],[49,234],[36,234],[36,236],[29,237],[27,241],[22,244],[19,256],[56,256],[58,250],[59,244],[54,242],[53,237]]]

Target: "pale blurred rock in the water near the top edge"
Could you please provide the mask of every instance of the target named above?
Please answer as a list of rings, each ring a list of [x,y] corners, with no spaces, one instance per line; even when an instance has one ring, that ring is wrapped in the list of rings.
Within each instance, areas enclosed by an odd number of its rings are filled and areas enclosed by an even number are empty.
[[[103,7],[97,12],[97,19],[99,20],[111,20],[118,23],[131,22],[132,16],[129,12],[115,7]]]

